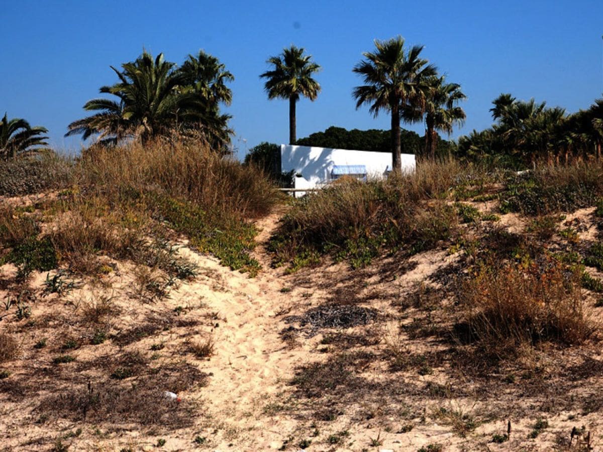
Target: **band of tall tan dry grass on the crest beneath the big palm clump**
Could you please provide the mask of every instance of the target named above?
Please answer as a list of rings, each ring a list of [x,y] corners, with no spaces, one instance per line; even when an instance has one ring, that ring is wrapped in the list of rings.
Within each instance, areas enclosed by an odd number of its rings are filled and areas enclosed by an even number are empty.
[[[161,193],[239,218],[265,215],[277,200],[273,184],[259,169],[227,159],[202,142],[96,148],[81,159],[78,174],[82,185],[103,192]]]

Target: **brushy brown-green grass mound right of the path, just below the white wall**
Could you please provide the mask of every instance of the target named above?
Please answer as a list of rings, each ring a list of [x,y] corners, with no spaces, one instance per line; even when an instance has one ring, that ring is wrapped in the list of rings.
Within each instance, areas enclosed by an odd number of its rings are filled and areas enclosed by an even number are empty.
[[[414,174],[332,184],[294,202],[270,250],[276,262],[294,266],[303,256],[333,253],[359,267],[383,250],[433,248],[457,229],[456,210],[444,198],[459,172],[452,161],[426,162]]]

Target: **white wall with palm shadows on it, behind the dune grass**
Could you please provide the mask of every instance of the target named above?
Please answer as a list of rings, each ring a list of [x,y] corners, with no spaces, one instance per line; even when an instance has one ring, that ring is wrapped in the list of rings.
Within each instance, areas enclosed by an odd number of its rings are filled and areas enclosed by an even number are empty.
[[[308,182],[306,184],[300,181],[299,188],[316,187],[328,183],[334,165],[364,165],[369,177],[383,177],[385,171],[391,171],[391,152],[280,145],[281,171],[294,170]],[[402,154],[402,171],[414,171],[414,168],[414,154]],[[300,178],[295,179],[297,186],[297,179]]]

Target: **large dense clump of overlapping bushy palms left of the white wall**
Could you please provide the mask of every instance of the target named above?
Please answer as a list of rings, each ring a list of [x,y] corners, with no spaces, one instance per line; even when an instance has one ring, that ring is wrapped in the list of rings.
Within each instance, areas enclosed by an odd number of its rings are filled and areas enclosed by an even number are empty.
[[[221,114],[220,106],[232,101],[226,84],[234,77],[217,58],[200,51],[178,67],[163,54],[153,57],[144,51],[136,61],[122,64],[121,71],[111,69],[119,81],[100,92],[117,99],[86,102],[84,110],[96,113],[69,124],[66,136],[96,136],[99,143],[115,144],[134,138],[145,143],[177,133],[203,137],[215,149],[229,143],[230,115]]]

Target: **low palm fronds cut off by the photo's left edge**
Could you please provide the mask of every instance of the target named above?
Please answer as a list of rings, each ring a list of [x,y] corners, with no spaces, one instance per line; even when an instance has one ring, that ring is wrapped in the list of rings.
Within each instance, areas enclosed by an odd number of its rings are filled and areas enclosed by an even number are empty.
[[[0,121],[0,157],[4,160],[14,159],[25,152],[36,152],[48,146],[48,137],[42,134],[48,132],[45,127],[34,126],[21,118],[8,119],[6,113]]]

